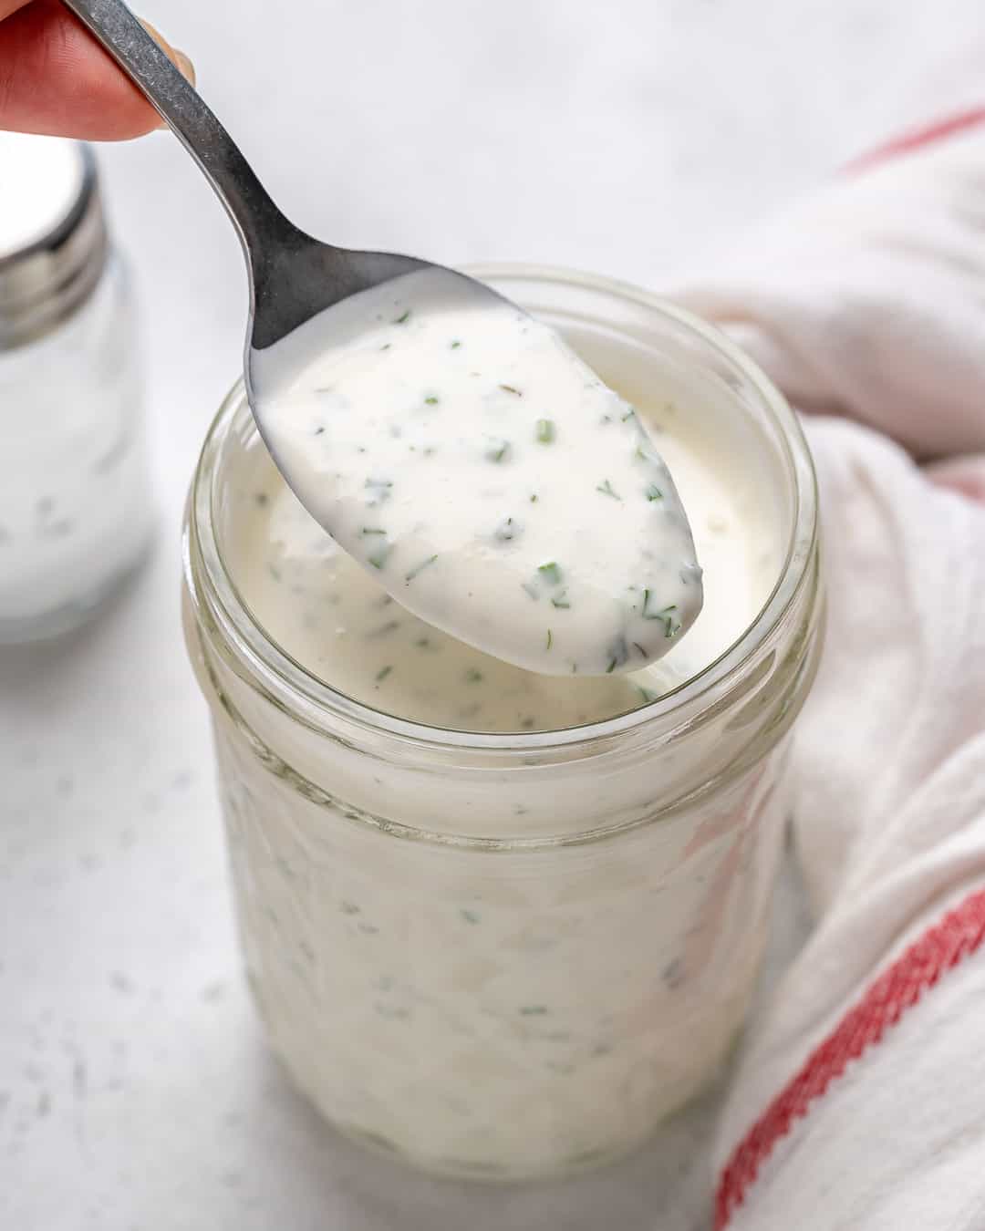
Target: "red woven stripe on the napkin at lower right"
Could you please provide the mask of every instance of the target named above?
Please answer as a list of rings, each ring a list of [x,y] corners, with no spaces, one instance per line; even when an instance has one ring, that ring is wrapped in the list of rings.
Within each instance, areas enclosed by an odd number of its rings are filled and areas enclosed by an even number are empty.
[[[719,1178],[715,1231],[728,1226],[777,1141],[841,1077],[848,1061],[879,1043],[941,975],[974,953],[984,939],[985,889],[981,889],[925,932],[870,985],[740,1141]]]

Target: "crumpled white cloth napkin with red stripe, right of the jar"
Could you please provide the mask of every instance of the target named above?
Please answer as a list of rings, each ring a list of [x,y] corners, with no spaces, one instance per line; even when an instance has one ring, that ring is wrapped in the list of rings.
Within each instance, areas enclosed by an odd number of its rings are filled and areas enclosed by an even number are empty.
[[[814,412],[829,586],[793,763],[816,927],[726,1101],[717,1226],[981,1231],[985,124],[671,298]]]

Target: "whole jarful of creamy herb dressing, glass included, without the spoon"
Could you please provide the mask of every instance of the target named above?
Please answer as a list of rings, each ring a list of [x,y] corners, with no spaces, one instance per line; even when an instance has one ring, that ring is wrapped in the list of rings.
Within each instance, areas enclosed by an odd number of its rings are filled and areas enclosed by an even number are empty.
[[[707,570],[687,636],[582,677],[435,629],[303,511],[239,390],[190,501],[185,614],[275,1050],[358,1140],[507,1178],[629,1149],[728,1053],[821,596],[803,438],[728,343],[624,288],[504,282],[671,468]]]

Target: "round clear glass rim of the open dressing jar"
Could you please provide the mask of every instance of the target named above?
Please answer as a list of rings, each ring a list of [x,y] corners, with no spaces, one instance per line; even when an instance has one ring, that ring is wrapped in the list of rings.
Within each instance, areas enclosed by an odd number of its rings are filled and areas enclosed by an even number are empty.
[[[630,283],[552,266],[496,263],[472,266],[465,272],[497,284],[511,281],[550,283],[618,297],[690,332],[752,389],[760,409],[777,428],[777,444],[792,485],[792,518],[776,582],[742,634],[701,671],[656,700],[612,718],[557,730],[460,731],[398,718],[355,700],[313,676],[270,639],[225,569],[213,515],[223,444],[236,421],[250,414],[243,380],[233,387],[215,415],[192,479],[183,551],[191,601],[199,611],[207,609],[227,645],[249,667],[254,684],[276,705],[316,730],[330,730],[342,718],[366,731],[432,748],[528,753],[547,750],[575,752],[579,746],[640,728],[676,730],[701,709],[707,693],[726,683],[755,656],[783,622],[808,577],[818,537],[818,487],[810,451],[797,416],[768,377],[725,334],[659,295]]]

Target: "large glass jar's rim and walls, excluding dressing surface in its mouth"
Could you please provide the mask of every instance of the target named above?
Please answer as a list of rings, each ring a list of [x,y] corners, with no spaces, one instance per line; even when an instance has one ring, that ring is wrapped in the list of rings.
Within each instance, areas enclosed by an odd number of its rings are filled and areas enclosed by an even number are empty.
[[[345,1133],[431,1169],[516,1178],[628,1150],[728,1055],[822,602],[806,446],[726,339],[598,278],[476,275],[637,405],[648,379],[683,373],[724,407],[715,430],[752,442],[778,550],[744,635],[667,696],[589,726],[465,734],[358,704],[268,639],[227,571],[233,479],[262,449],[241,387],[192,484],[185,627],[275,1050]]]

